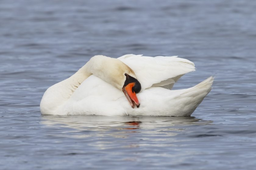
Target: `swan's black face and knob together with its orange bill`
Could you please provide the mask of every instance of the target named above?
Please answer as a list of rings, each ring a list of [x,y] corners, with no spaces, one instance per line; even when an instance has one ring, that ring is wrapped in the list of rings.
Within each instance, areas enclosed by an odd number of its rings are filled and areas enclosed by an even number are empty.
[[[140,82],[127,73],[125,73],[124,76],[126,77],[126,79],[122,88],[123,93],[133,108],[135,105],[139,107],[140,103],[137,99],[136,93],[139,93],[141,90]]]

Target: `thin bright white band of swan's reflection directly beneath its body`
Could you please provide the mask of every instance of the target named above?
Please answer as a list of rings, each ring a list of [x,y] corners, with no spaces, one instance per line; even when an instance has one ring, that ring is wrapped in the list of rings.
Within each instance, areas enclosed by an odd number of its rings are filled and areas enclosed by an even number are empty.
[[[186,126],[191,124],[209,124],[212,121],[203,121],[196,117],[105,117],[98,115],[44,115],[41,117],[41,124],[53,127],[68,127],[76,130],[106,131],[116,128],[155,129],[171,126]]]

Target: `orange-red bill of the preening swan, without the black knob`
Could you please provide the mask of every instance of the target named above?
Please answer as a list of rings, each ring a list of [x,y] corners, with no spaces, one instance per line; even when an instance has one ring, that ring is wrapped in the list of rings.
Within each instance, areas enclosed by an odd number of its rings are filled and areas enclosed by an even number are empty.
[[[133,91],[133,86],[135,83],[129,83],[125,87],[123,87],[123,93],[126,96],[127,100],[129,101],[132,108],[136,105],[137,107],[140,106],[139,100],[135,92]],[[135,104],[135,105],[134,105]]]

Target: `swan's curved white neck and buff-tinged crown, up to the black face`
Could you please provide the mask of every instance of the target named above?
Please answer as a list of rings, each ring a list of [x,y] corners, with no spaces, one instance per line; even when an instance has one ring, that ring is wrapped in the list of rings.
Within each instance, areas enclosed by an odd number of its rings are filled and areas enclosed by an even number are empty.
[[[52,112],[63,106],[77,87],[91,74],[122,90],[126,80],[124,73],[135,77],[133,70],[120,60],[106,56],[94,56],[74,75],[49,87],[45,91],[40,103],[41,113],[54,114]]]

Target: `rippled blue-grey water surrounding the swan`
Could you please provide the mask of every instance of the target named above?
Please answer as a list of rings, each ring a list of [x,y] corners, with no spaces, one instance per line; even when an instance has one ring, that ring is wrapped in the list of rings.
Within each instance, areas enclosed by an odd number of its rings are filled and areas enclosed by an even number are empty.
[[[0,169],[255,169],[255,1],[0,1]],[[42,116],[91,56],[173,56],[214,75],[192,117]]]

